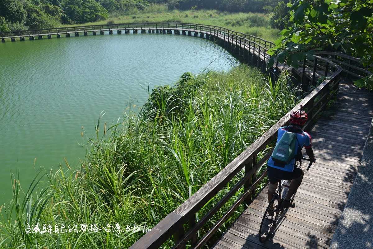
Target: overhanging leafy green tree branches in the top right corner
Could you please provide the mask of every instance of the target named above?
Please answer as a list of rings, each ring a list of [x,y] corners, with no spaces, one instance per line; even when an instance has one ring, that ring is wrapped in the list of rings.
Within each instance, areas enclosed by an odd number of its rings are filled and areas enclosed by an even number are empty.
[[[315,50],[332,50],[362,58],[373,72],[373,0],[297,0],[288,7],[294,27],[284,29],[269,51],[280,63],[297,66]],[[372,78],[355,83],[373,90]]]

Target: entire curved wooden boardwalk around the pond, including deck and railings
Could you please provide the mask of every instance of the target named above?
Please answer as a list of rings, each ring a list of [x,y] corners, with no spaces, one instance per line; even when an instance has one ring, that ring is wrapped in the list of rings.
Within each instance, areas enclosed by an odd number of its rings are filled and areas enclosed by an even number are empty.
[[[121,30],[129,33],[166,32],[168,34],[194,35],[206,37],[219,42],[226,49],[236,53],[240,59],[266,69],[270,58],[267,51],[274,46],[272,42],[265,41],[252,35],[242,34],[222,27],[200,24],[175,24],[175,23],[147,23],[147,24],[113,24],[92,25],[70,28],[44,29],[37,31],[0,32],[3,41],[15,37],[24,40],[24,37],[34,39],[37,35],[43,38],[47,35],[65,34],[69,36],[79,32]],[[273,141],[276,140],[277,130],[286,124],[289,113],[281,118],[273,127],[264,133],[257,141],[251,144],[244,152],[230,164],[216,174],[208,183],[199,189],[188,200],[160,221],[155,227],[138,240],[131,249],[159,248],[167,240],[173,240],[174,247],[185,249],[206,247],[207,242],[217,232],[219,227],[228,220],[235,209],[242,204],[247,208],[233,222],[231,227],[223,233],[211,248],[216,249],[251,249],[251,248],[329,248],[335,228],[341,217],[348,194],[355,175],[357,174],[366,141],[370,122],[373,117],[373,96],[365,90],[357,89],[351,81],[342,77],[361,78],[371,74],[361,68],[360,60],[351,56],[334,52],[320,52],[311,60],[300,62],[299,68],[291,69],[294,76],[293,84],[303,90],[316,87],[311,91],[295,109],[303,105],[308,113],[309,121],[304,130],[309,131],[313,137],[313,148],[316,163],[306,171],[303,183],[296,196],[296,207],[289,209],[280,217],[275,235],[268,242],[261,244],[257,234],[267,203],[267,187],[258,195],[255,190],[257,185],[266,176],[266,171],[259,169],[270,157]],[[288,68],[275,63],[270,68],[271,74]],[[275,71],[276,70],[276,71]],[[319,83],[319,84],[318,84]],[[325,111],[330,100],[338,93],[332,107]],[[325,111],[325,112],[323,112]],[[196,214],[208,205],[210,200],[231,182],[239,172],[243,177],[237,183],[230,184],[229,192],[214,202],[211,208],[203,212],[203,217],[196,219]],[[260,173],[260,175],[259,175]],[[234,184],[234,185],[233,185]],[[225,203],[235,196],[236,192],[243,189],[243,193],[236,197],[234,204],[219,217],[211,218],[222,208]],[[216,221],[216,219],[218,219]],[[211,223],[213,225],[211,225]],[[209,230],[203,230],[209,224]]]

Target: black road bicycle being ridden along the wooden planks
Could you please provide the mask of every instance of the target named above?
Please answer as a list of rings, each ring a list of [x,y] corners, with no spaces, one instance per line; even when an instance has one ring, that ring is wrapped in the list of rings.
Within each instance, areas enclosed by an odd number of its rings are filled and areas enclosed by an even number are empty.
[[[308,164],[308,167],[307,167],[307,171],[308,171],[308,169],[310,169],[313,161],[311,161],[311,159],[305,158],[303,156],[302,156],[302,159],[306,160],[306,161],[310,161],[310,164]],[[301,166],[302,166],[302,160],[300,160],[299,168],[301,168]],[[269,239],[269,237],[273,235],[273,232],[276,229],[276,225],[277,225],[276,221],[278,219],[278,216],[279,216],[280,213],[282,214],[283,211],[284,211],[284,209],[281,208],[281,203],[282,203],[282,200],[283,200],[283,198],[281,197],[282,184],[284,182],[285,182],[285,180],[279,180],[278,189],[277,189],[276,193],[273,195],[273,198],[270,201],[266,211],[264,212],[263,219],[261,220],[261,223],[260,223],[259,234],[258,234],[259,235],[259,241],[261,243],[266,242]],[[294,197],[295,197],[296,193],[297,192],[295,192],[293,194],[293,196],[291,197],[291,201],[294,200]],[[273,206],[274,209],[270,213],[269,209],[270,209],[271,206]]]

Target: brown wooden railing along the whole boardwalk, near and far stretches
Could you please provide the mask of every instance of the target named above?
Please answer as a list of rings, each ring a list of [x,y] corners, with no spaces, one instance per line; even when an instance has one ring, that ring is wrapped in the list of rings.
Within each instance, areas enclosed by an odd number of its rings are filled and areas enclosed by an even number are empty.
[[[230,44],[231,49],[240,50],[239,56],[247,56],[247,60],[256,66],[262,68],[267,65],[269,59],[268,50],[274,46],[270,41],[263,40],[253,35],[242,34],[230,29],[218,26],[201,25],[201,24],[180,24],[180,23],[138,23],[138,24],[107,24],[107,25],[90,25],[68,28],[54,28],[31,31],[18,32],[0,32],[1,37],[14,36],[30,36],[30,35],[45,35],[45,34],[63,34],[72,32],[88,32],[88,31],[104,31],[104,30],[129,30],[129,29],[173,29],[181,31],[195,31],[209,34],[214,39],[222,41],[224,44]],[[229,46],[228,46],[229,47]],[[300,108],[301,105],[308,113],[309,120],[304,126],[304,130],[310,129],[320,112],[325,108],[329,100],[338,90],[339,78],[342,72],[354,75],[357,77],[361,74],[350,71],[352,69],[360,70],[349,65],[342,68],[335,62],[340,63],[342,60],[338,58],[344,57],[339,54],[330,54],[321,52],[320,55],[328,56],[312,56],[311,60],[300,62],[301,67],[293,69],[297,82],[302,89],[307,89],[308,86],[316,87],[309,93],[298,105],[283,116],[275,125],[273,125],[266,133],[258,138],[250,147],[242,152],[230,164],[217,173],[209,182],[201,189],[193,194],[188,200],[182,203],[173,212],[161,220],[147,234],[141,237],[130,249],[153,249],[159,248],[164,242],[173,238],[174,249],[184,249],[186,245],[191,248],[198,249],[204,246],[214,233],[228,220],[235,209],[241,203],[250,203],[255,197],[257,185],[263,180],[267,172],[259,174],[258,169],[263,166],[269,159],[272,150],[269,150],[271,144],[276,140],[276,133],[279,127],[285,125],[289,119],[289,113]],[[335,56],[330,58],[329,56]],[[344,57],[345,58],[345,57]],[[351,59],[351,58],[347,58]],[[354,59],[351,59],[354,60]],[[275,63],[274,68],[278,71],[279,65]],[[284,65],[280,69],[285,68]],[[369,73],[360,70],[364,73]],[[320,82],[322,81],[322,82]],[[320,83],[320,84],[318,84]],[[217,193],[226,187],[233,177],[239,175],[244,170],[244,176],[230,188],[225,194],[203,217],[196,220],[196,214],[200,212],[207,203],[213,199]],[[206,228],[205,225],[211,218],[222,208],[232,196],[244,189],[244,192],[236,199],[234,204],[217,220],[213,226],[204,234],[197,235],[198,231],[203,231],[201,228]]]

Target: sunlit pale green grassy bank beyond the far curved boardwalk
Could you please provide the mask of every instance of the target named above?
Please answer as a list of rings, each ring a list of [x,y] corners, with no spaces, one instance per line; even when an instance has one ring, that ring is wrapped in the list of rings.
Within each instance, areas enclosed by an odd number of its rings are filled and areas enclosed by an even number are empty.
[[[218,10],[168,10],[166,5],[155,4],[141,11],[131,10],[125,15],[111,13],[110,17],[104,21],[86,23],[86,25],[131,22],[197,23],[225,27],[265,40],[275,41],[279,38],[280,30],[270,27],[271,16],[272,14],[229,13]]]

